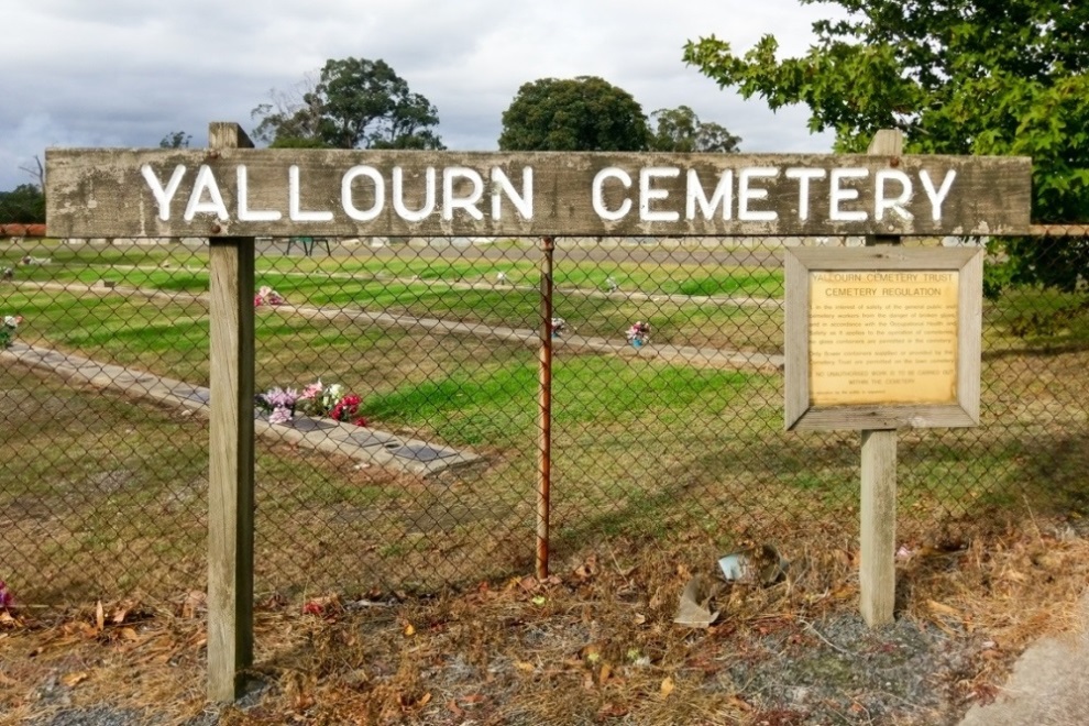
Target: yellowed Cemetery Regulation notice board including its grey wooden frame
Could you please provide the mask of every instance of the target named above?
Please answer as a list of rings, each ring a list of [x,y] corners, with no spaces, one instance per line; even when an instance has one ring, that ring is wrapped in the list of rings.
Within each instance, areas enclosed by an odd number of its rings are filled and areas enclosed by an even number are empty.
[[[975,426],[983,251],[787,251],[793,429]]]

